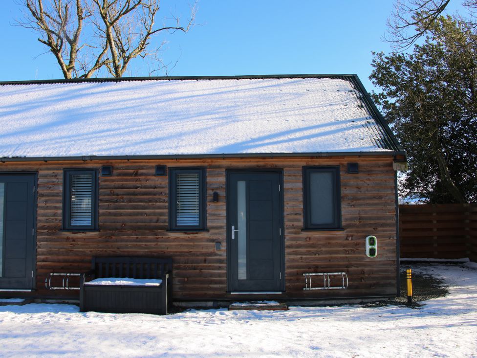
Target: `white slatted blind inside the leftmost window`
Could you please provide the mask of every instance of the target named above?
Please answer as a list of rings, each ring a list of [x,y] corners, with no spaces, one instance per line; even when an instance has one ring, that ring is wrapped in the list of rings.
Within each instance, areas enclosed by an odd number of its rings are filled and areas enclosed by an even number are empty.
[[[91,225],[93,206],[93,177],[91,174],[71,175],[70,224]]]

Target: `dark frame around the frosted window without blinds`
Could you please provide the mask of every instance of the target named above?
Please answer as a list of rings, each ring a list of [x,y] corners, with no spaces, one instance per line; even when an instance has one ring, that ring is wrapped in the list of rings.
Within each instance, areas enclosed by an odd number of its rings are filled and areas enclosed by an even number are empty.
[[[303,227],[304,230],[342,230],[341,223],[341,180],[339,166],[304,166],[303,170]],[[331,224],[312,224],[309,181],[311,173],[331,173],[333,176],[333,222]]]

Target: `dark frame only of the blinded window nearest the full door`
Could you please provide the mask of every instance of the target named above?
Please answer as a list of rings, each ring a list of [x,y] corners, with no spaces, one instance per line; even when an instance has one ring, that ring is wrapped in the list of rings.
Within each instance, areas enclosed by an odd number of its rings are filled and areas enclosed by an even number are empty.
[[[169,230],[170,231],[204,231],[207,230],[207,171],[202,167],[169,168]],[[191,173],[199,175],[199,224],[177,225],[177,188],[176,175]]]

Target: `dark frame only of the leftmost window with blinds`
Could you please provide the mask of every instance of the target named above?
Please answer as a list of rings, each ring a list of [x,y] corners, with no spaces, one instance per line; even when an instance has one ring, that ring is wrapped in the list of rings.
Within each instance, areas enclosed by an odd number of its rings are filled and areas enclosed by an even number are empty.
[[[91,174],[91,225],[71,225],[71,176],[73,174]],[[63,170],[63,230],[65,231],[97,231],[99,206],[99,171],[97,169],[64,169]]]

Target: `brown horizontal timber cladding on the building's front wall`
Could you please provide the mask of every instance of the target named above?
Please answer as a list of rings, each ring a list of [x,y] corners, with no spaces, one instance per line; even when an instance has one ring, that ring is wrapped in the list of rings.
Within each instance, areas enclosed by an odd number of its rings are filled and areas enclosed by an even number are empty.
[[[347,174],[358,162],[359,173]],[[168,231],[168,176],[154,176],[155,165],[207,168],[207,229]],[[63,170],[112,166],[99,178],[99,231],[62,231]],[[339,165],[344,230],[304,231],[303,166]],[[36,246],[37,294],[46,291],[50,272],[81,272],[92,256],[173,257],[173,297],[241,299],[227,293],[226,169],[279,169],[284,188],[285,292],[275,298],[326,298],[393,295],[396,292],[396,207],[391,156],[209,158],[85,162],[7,162],[0,172],[38,172]],[[213,202],[217,192],[219,201]],[[409,224],[411,225],[412,224]],[[411,227],[409,226],[409,227]],[[417,227],[416,227],[417,229]],[[378,256],[365,255],[365,237],[378,239]],[[216,248],[220,243],[221,248]],[[347,290],[304,291],[304,273],[347,273]]]

